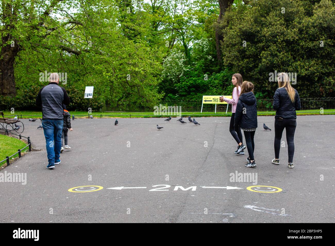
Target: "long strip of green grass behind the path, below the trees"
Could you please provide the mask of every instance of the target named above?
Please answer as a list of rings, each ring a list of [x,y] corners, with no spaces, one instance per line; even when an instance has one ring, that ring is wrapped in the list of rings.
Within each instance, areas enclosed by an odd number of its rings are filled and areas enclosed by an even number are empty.
[[[222,116],[228,116],[230,117],[231,112],[227,112],[225,115],[225,112],[216,112],[216,115],[219,117]],[[273,116],[275,115],[275,111],[259,111],[258,115],[259,116]],[[312,110],[303,110],[303,111],[296,111],[297,115],[320,115],[320,110],[312,109]],[[8,117],[11,115],[10,111],[4,111],[5,117]],[[41,111],[16,111],[15,114],[22,115],[22,118],[41,118],[42,117],[42,112]],[[71,117],[72,114],[74,114],[75,117],[81,118],[81,117],[87,117],[87,111],[70,111]],[[95,118],[100,118],[100,114],[107,114],[105,116],[102,116],[103,118],[105,117],[115,117],[115,118],[129,118],[130,115],[132,118],[151,118],[151,117],[161,117],[160,115],[153,115],[152,112],[92,112],[93,116]],[[97,115],[94,115],[97,114]],[[212,114],[212,115],[208,115]],[[325,109],[324,114],[335,114],[335,109]],[[26,115],[26,116],[25,116]],[[197,116],[197,117],[206,117],[206,116],[215,116],[215,112],[182,112],[183,116]],[[169,115],[167,115],[169,116]],[[162,117],[167,117],[166,115],[163,115]]]

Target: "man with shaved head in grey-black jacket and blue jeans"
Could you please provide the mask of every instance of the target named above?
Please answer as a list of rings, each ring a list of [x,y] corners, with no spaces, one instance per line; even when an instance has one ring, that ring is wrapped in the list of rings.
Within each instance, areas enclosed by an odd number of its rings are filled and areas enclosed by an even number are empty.
[[[61,136],[63,129],[63,104],[68,105],[70,98],[65,89],[58,85],[59,75],[50,74],[49,84],[42,87],[36,97],[36,105],[42,106],[42,125],[48,153],[48,169],[60,164]]]

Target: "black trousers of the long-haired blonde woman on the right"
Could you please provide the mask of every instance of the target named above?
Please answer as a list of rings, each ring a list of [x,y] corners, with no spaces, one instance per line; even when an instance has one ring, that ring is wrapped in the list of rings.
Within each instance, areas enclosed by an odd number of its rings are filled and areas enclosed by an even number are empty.
[[[286,141],[288,148],[288,163],[293,162],[294,155],[294,132],[296,128],[296,120],[284,119],[274,121],[274,154],[275,158],[279,159],[280,143],[283,130],[286,128]]]

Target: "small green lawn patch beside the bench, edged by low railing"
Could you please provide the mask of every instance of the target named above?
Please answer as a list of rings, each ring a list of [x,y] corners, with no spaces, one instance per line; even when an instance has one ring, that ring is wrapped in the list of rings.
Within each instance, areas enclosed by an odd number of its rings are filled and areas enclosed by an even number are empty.
[[[0,161],[6,159],[6,156],[11,156],[15,152],[17,152],[18,149],[22,149],[26,146],[27,144],[24,143],[23,141],[9,137],[3,134],[0,134]],[[24,149],[21,153],[28,151],[28,147]],[[18,154],[14,155],[13,157],[10,158],[16,158],[18,157]],[[0,163],[0,167],[5,164],[6,162]]]

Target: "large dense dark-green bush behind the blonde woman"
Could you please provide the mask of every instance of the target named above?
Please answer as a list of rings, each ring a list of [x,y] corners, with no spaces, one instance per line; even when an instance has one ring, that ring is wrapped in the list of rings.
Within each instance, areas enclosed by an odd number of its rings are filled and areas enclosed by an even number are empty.
[[[250,1],[232,7],[224,21],[224,63],[253,82],[256,92],[272,97],[278,84],[269,73],[277,71],[296,73],[300,97],[335,96],[332,1]]]

